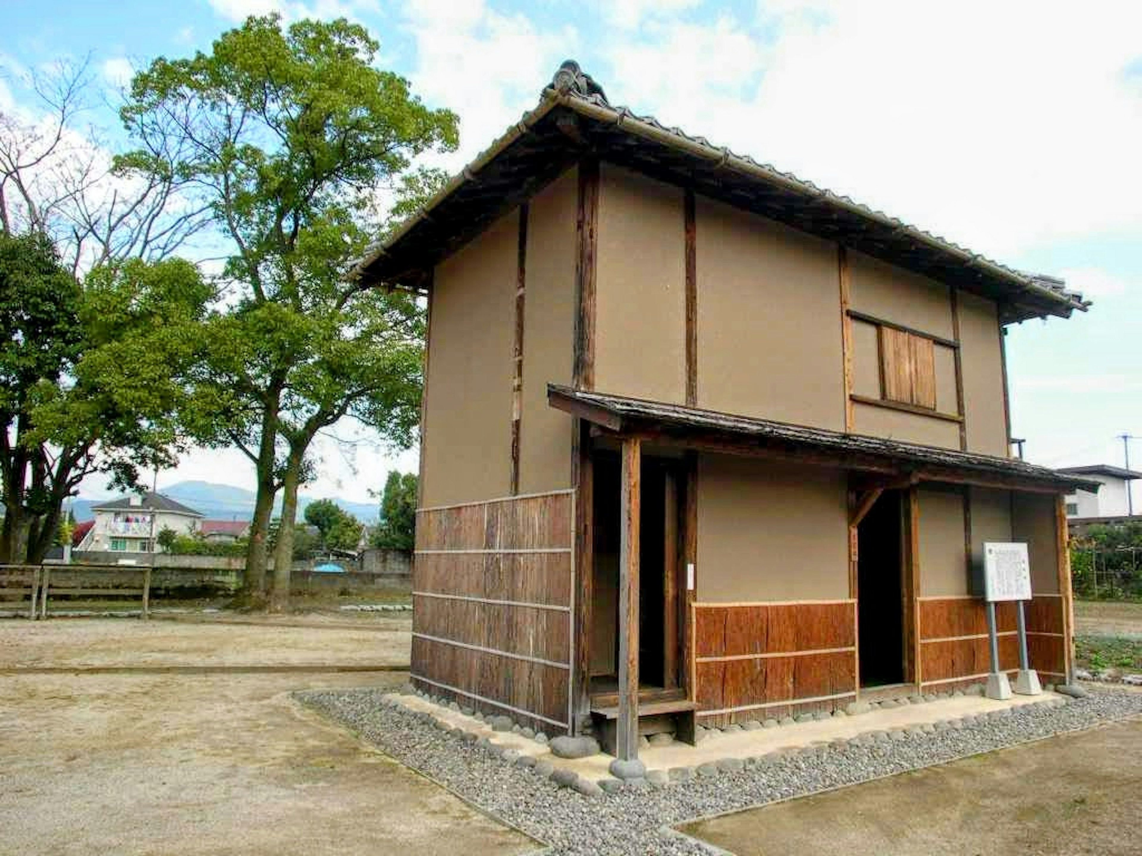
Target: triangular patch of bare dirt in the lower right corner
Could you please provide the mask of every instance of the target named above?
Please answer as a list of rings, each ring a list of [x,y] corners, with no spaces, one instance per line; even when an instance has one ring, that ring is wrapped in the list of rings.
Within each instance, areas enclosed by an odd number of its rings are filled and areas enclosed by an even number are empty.
[[[684,831],[737,856],[1140,854],[1139,758],[1135,719]]]

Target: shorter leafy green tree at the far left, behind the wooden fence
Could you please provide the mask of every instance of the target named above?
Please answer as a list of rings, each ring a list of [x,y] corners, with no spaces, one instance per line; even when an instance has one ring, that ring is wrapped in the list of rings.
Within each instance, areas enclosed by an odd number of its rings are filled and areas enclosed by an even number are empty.
[[[78,281],[39,233],[0,232],[0,562],[38,563],[64,500],[169,466],[180,378],[210,294],[190,263],[107,263]]]

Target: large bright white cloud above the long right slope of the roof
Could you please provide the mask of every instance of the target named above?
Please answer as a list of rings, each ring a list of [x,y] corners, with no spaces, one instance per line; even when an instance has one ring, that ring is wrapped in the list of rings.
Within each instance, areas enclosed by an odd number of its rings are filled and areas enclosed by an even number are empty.
[[[1142,6],[764,3],[613,38],[618,103],[1000,259],[1142,223]]]

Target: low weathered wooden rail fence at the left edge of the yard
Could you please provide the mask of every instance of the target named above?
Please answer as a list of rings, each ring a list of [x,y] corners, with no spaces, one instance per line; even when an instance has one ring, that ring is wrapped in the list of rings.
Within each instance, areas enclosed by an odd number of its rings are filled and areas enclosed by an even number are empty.
[[[46,619],[56,598],[138,599],[140,615],[151,615],[151,567],[129,565],[0,565],[0,603],[18,603],[27,617]]]

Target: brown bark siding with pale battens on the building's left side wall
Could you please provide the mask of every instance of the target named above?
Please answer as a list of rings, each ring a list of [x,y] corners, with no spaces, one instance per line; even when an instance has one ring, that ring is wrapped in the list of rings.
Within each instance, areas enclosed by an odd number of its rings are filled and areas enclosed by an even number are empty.
[[[417,512],[413,683],[568,730],[574,506],[554,491]]]

